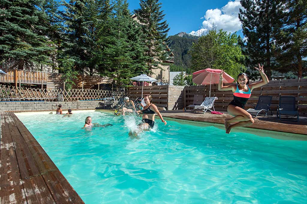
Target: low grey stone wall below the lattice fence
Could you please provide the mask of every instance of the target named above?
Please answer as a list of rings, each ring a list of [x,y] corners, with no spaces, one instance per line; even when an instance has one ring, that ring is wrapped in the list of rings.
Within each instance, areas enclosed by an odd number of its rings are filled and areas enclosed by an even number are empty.
[[[0,102],[0,111],[38,111],[56,110],[59,104],[63,110],[67,109],[95,109],[99,101],[72,101],[72,102],[48,102],[48,101],[22,101]]]

